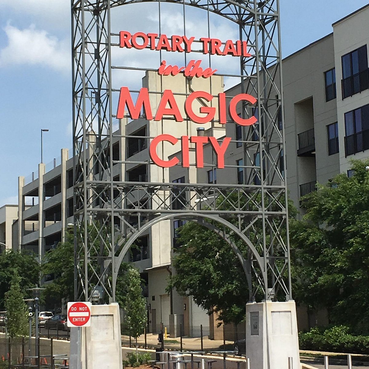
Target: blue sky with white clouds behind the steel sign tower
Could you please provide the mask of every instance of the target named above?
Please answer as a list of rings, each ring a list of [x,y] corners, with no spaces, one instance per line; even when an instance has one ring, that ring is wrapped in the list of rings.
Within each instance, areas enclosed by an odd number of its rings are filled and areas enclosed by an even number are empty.
[[[280,0],[283,57],[332,32],[332,23],[367,3]],[[18,176],[37,171],[41,128],[49,129],[44,163],[72,147],[72,105],[70,0],[0,0],[0,6],[2,206],[17,203]],[[146,29],[153,21],[151,7],[120,7],[115,31]]]

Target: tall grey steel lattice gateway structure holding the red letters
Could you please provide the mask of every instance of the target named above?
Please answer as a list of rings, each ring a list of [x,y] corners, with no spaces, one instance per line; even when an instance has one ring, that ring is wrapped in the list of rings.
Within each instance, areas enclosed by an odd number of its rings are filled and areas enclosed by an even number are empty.
[[[256,286],[249,289],[250,300],[258,289],[266,300],[275,299],[277,294],[289,300],[286,159],[284,130],[280,127],[283,92],[279,0],[147,1],[158,3],[159,31],[161,4],[175,3],[183,9],[192,6],[207,11],[208,25],[209,13],[233,22],[239,39],[248,40],[251,55],[240,56],[239,72],[232,74],[239,78],[240,91],[257,100],[258,124],[243,127],[243,137],[238,139],[244,153],[243,184],[114,179],[114,165],[130,163],[124,154],[119,158],[114,154],[114,138],[130,136],[114,133],[113,95],[119,90],[113,86],[112,72],[135,68],[113,65],[112,49],[117,46],[114,38],[118,34],[111,31],[111,11],[143,2],[71,0],[75,299],[91,300],[100,287],[110,301],[115,301],[115,280],[125,253],[122,245],[131,244],[142,229],[164,218],[218,217],[228,232],[217,227],[214,231],[223,232],[224,238],[237,236],[249,242],[246,269]],[[241,114],[249,116],[250,107],[243,104]],[[259,155],[258,161],[255,154]],[[132,196],[137,194],[144,203],[133,202]],[[181,209],[173,206],[179,199]],[[199,201],[206,208],[199,208]],[[132,222],[132,216],[138,222]],[[209,222],[203,224],[210,227]]]

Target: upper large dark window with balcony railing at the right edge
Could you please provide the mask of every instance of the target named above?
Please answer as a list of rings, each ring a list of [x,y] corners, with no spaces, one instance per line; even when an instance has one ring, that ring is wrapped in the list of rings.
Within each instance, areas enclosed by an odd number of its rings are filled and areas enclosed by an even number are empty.
[[[342,99],[369,88],[366,45],[342,56]]]

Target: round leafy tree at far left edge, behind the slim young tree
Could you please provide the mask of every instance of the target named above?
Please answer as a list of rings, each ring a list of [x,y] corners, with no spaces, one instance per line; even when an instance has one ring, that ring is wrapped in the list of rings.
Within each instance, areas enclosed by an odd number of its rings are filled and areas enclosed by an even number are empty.
[[[39,281],[39,264],[34,255],[25,251],[7,250],[0,254],[0,309],[4,310],[4,297],[10,290],[14,273],[20,276],[19,289],[23,296],[28,296],[28,288],[35,287]]]

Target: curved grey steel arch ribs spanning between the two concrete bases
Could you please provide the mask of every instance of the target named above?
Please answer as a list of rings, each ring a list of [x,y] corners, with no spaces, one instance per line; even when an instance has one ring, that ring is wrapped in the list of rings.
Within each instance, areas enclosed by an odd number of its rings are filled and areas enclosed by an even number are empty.
[[[123,258],[125,256],[125,254],[127,254],[127,251],[134,244],[136,239],[140,235],[142,235],[145,231],[147,231],[149,228],[151,228],[154,224],[159,223],[163,220],[170,220],[170,219],[174,219],[174,218],[184,219],[184,220],[196,220],[201,225],[203,225],[204,227],[207,227],[208,229],[214,231],[216,234],[218,234],[220,237],[222,237],[224,239],[224,241],[226,241],[231,246],[232,251],[235,253],[237,258],[241,262],[242,268],[244,269],[246,280],[248,282],[248,287],[249,287],[249,298],[250,298],[250,300],[252,300],[252,298],[253,298],[253,296],[252,296],[252,282],[251,282],[251,276],[250,276],[251,275],[251,261],[246,260],[243,257],[243,255],[239,251],[237,245],[235,245],[235,243],[231,240],[230,237],[228,237],[228,235],[224,231],[222,231],[220,228],[215,227],[213,224],[208,223],[207,221],[204,221],[204,219],[208,218],[208,219],[214,220],[214,221],[224,225],[225,227],[227,227],[231,231],[233,231],[234,234],[236,234],[239,238],[242,239],[242,241],[245,242],[246,245],[248,245],[248,248],[252,252],[252,255],[255,256],[255,259],[258,262],[259,268],[262,270],[263,281],[259,281],[259,282],[262,282],[263,286],[267,285],[266,284],[267,283],[267,280],[266,280],[267,276],[266,276],[266,273],[265,273],[266,272],[265,268],[263,267],[263,259],[260,257],[258,251],[256,250],[255,246],[252,244],[252,242],[242,232],[240,232],[238,230],[238,228],[235,227],[232,223],[228,222],[227,220],[225,220],[225,219],[223,219],[223,218],[221,218],[217,215],[212,215],[212,214],[201,214],[201,213],[167,214],[167,215],[161,215],[159,217],[156,217],[156,218],[152,219],[151,221],[146,223],[144,226],[142,226],[139,230],[137,230],[136,232],[131,234],[130,237],[128,238],[127,242],[125,242],[125,244],[124,244],[123,248],[121,249],[119,255],[115,258],[115,265],[114,265],[114,270],[113,270],[113,300],[114,301],[115,301],[115,288],[116,288],[116,282],[117,282],[119,269],[120,269],[121,263],[123,262]],[[124,239],[121,238],[117,242],[117,247],[121,246],[123,243],[124,243]]]

